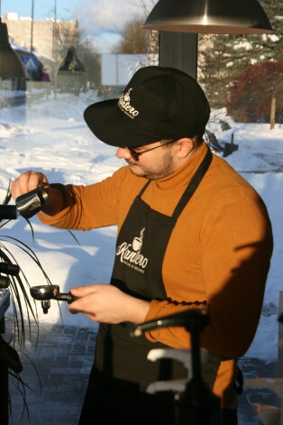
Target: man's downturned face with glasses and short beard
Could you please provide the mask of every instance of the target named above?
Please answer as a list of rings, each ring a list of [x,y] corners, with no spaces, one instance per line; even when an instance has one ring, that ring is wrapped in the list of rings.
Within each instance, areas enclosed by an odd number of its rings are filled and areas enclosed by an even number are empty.
[[[158,146],[160,149],[157,149]],[[154,149],[155,147],[156,149]],[[160,142],[156,142],[135,148],[135,152],[142,152],[136,158],[128,148],[118,148],[116,156],[123,158],[129,164],[130,171],[135,176],[157,180],[167,177],[178,168],[172,152],[173,147],[174,145],[164,146]]]

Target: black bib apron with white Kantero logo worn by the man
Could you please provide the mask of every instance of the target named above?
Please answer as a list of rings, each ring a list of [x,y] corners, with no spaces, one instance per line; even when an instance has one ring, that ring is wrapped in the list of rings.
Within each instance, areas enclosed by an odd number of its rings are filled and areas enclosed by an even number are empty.
[[[165,300],[162,263],[179,215],[193,196],[212,160],[207,150],[203,162],[187,186],[171,217],[151,209],[142,193],[134,199],[116,243],[111,284],[142,300]],[[189,226],[189,224],[188,224]],[[87,388],[80,425],[173,423],[169,393],[145,393],[155,381],[187,377],[187,369],[172,359],[147,360],[152,348],[168,348],[146,337],[131,337],[131,323],[101,324],[96,358]],[[163,415],[163,416],[162,416]],[[117,422],[118,421],[118,422]]]

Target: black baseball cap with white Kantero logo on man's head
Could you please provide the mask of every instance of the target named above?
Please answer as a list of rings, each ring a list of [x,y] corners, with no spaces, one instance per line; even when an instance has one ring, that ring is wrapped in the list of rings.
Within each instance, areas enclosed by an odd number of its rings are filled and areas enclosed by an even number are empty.
[[[90,130],[112,146],[142,146],[203,134],[210,107],[186,72],[157,66],[138,69],[119,98],[87,106]]]

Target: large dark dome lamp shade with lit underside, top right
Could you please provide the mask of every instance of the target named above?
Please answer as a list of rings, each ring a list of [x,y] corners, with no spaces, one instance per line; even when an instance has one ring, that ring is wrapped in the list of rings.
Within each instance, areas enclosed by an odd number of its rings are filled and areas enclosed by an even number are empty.
[[[160,0],[142,27],[211,34],[273,32],[257,0]]]

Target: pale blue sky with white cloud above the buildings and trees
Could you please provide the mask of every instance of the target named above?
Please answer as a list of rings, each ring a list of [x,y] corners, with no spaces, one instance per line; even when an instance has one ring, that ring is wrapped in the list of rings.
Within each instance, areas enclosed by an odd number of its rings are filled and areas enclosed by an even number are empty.
[[[32,0],[0,0],[1,15],[15,12],[20,17],[32,16]],[[78,26],[93,38],[97,50],[111,51],[118,42],[123,25],[133,16],[144,13],[143,4],[149,10],[157,0],[33,0],[33,18],[76,19]]]

